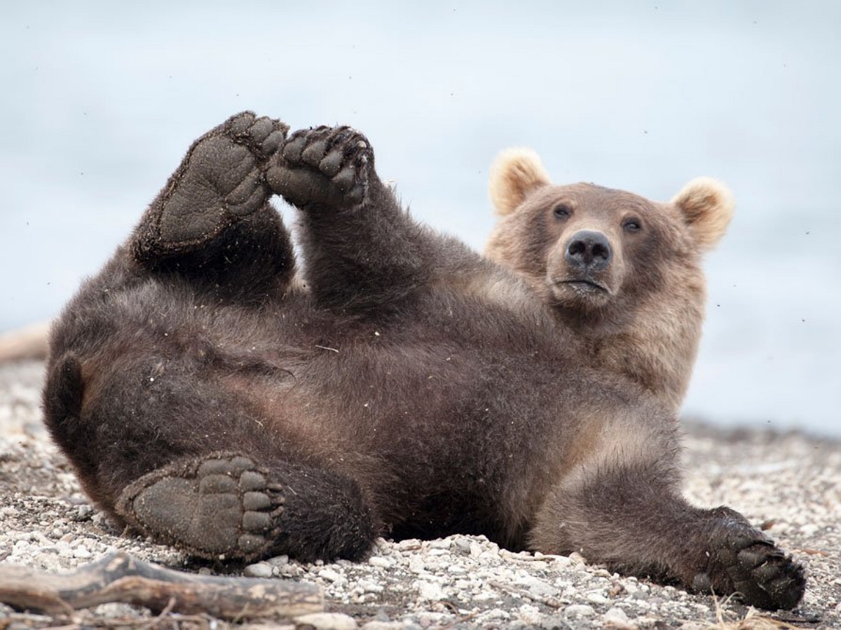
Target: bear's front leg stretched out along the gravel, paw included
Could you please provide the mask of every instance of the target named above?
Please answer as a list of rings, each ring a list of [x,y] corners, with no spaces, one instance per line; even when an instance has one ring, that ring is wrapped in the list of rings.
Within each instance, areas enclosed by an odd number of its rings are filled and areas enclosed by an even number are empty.
[[[727,507],[690,506],[660,462],[614,465],[558,487],[532,531],[534,549],[579,551],[614,570],[678,580],[751,606],[793,608],[806,580],[800,564]]]

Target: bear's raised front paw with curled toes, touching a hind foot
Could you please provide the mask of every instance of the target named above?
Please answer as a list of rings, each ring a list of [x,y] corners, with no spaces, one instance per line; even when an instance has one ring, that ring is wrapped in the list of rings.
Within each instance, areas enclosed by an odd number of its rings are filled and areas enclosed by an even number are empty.
[[[362,202],[373,170],[368,139],[349,127],[292,134],[267,171],[272,190],[297,207],[351,207]]]

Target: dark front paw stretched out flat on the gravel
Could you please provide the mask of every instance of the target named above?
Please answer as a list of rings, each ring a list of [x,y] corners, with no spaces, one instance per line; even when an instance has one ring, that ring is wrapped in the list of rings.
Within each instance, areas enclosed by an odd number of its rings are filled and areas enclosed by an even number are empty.
[[[768,610],[797,606],[806,590],[803,567],[741,516],[723,518],[711,542],[709,567],[696,575],[696,590],[737,592]]]

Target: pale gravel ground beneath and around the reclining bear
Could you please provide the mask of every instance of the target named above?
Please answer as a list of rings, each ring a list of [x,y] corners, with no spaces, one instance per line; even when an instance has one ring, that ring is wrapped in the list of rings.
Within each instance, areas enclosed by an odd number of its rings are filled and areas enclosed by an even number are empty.
[[[780,628],[841,627],[841,444],[801,433],[722,432],[690,424],[686,492],[727,504],[808,567],[794,612],[759,613],[734,600],[695,596],[621,577],[570,557],[512,554],[483,537],[379,541],[367,563],[300,564],[285,556],[249,566],[200,564],[126,538],[82,495],[40,422],[43,365],[0,365],[0,562],[59,572],[114,550],[171,568],[304,580],[323,587],[328,614],[229,624],[207,616],[154,617],[105,604],[68,617],[0,604],[0,630],[24,627]],[[747,618],[746,618],[747,617]]]

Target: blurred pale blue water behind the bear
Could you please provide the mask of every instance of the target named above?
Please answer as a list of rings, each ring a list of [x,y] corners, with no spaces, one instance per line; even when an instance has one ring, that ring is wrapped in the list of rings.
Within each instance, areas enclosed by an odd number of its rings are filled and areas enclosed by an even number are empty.
[[[685,414],[841,436],[841,3],[0,7],[0,331],[50,318],[188,144],[253,109],[349,123],[416,217],[482,247],[487,171],[733,188]]]

